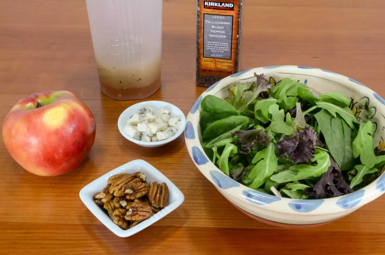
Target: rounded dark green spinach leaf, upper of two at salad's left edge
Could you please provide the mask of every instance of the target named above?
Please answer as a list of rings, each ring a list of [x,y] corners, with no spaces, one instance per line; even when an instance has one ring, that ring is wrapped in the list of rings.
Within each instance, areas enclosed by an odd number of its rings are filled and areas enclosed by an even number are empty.
[[[213,95],[205,96],[202,99],[201,109],[202,113],[199,123],[201,125],[202,133],[213,122],[238,115],[238,112],[231,104]]]

